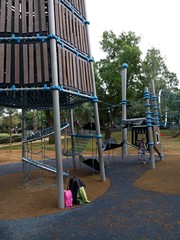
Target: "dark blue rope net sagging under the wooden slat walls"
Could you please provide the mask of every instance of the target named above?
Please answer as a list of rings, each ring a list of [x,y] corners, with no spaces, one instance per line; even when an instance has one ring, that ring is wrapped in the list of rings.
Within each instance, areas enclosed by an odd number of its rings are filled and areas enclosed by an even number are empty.
[[[92,95],[85,95],[65,89],[61,86],[40,88],[11,88],[0,89],[0,106],[21,109],[49,109],[53,107],[53,90],[59,91],[60,107],[74,108],[84,102],[94,101]]]

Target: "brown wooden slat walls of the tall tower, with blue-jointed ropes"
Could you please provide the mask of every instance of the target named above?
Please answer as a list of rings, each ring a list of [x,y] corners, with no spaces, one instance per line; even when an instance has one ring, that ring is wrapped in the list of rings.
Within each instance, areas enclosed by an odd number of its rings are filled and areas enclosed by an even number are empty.
[[[83,0],[54,1],[55,36],[47,0],[0,2],[1,87],[51,85],[49,41],[56,38],[59,85],[92,93],[91,58]]]

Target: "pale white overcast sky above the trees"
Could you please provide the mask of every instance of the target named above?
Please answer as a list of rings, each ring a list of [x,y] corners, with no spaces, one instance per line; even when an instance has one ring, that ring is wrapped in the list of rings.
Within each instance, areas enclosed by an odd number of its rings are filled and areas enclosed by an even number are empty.
[[[141,37],[140,49],[155,47],[169,71],[180,80],[179,0],[86,0],[92,56],[103,57],[99,42],[103,31],[120,35],[133,31]]]

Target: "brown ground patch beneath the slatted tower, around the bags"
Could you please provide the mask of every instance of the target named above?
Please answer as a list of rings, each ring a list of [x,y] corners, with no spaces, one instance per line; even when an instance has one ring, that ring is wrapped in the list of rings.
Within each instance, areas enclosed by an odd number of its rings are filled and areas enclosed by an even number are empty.
[[[86,183],[86,193],[91,201],[102,196],[110,186],[109,179],[103,183],[99,174],[82,171],[70,174]],[[66,189],[67,181],[64,182]],[[1,176],[0,192],[0,219],[36,217],[71,210],[58,208],[56,179],[49,172],[43,171],[42,175],[39,170],[32,171],[28,183],[23,182],[23,173]]]

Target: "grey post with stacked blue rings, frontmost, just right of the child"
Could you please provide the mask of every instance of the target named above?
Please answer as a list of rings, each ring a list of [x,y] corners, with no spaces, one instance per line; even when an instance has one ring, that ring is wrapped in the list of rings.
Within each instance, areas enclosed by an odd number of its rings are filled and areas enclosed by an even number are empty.
[[[149,103],[150,100],[150,93],[148,91],[148,88],[146,87],[144,90],[144,100],[145,100],[145,107],[147,109],[146,111],[146,125],[148,128],[148,146],[150,150],[150,158],[151,158],[151,167],[152,169],[155,169],[155,159],[154,159],[154,142],[153,142],[153,132],[152,132],[152,117],[151,117],[151,104]]]

